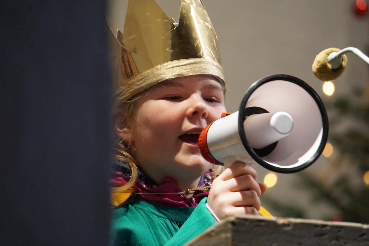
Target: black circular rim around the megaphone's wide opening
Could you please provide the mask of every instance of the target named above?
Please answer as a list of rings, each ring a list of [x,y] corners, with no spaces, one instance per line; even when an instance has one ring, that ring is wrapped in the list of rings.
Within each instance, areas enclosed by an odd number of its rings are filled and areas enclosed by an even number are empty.
[[[323,121],[323,136],[322,136],[322,141],[321,141],[321,143],[318,147],[318,150],[315,152],[315,154],[308,161],[306,161],[306,163],[301,164],[297,167],[281,168],[281,167],[275,167],[275,166],[273,166],[269,163],[266,163],[265,161],[263,161],[263,159],[261,157],[259,157],[256,154],[255,150],[249,145],[249,143],[246,139],[246,134],[245,134],[245,129],[244,129],[244,121],[245,121],[245,117],[246,117],[245,107],[246,107],[246,103],[247,103],[249,97],[259,86],[261,86],[265,83],[268,83],[270,81],[276,81],[276,80],[283,80],[283,81],[292,82],[292,83],[295,83],[296,85],[299,85],[301,88],[305,89],[310,94],[310,96],[315,100],[315,102],[317,103],[317,105],[319,107],[319,110],[320,110],[321,118],[322,118],[322,121]],[[244,98],[242,99],[241,105],[239,106],[238,132],[239,132],[239,137],[241,138],[242,144],[244,145],[246,151],[249,153],[251,158],[253,158],[257,163],[259,163],[263,167],[267,168],[268,170],[274,171],[274,172],[280,172],[280,173],[298,172],[298,171],[301,171],[301,170],[307,168],[311,164],[313,164],[314,161],[316,161],[317,158],[323,152],[323,149],[325,147],[325,144],[327,143],[327,138],[328,138],[327,110],[325,110],[323,102],[320,99],[320,97],[318,96],[318,94],[315,92],[315,90],[313,88],[311,88],[307,83],[302,81],[301,79],[296,78],[296,77],[291,76],[291,75],[286,75],[286,74],[269,75],[269,76],[266,76],[264,78],[259,79],[255,83],[253,83],[250,86],[250,88],[247,90]]]

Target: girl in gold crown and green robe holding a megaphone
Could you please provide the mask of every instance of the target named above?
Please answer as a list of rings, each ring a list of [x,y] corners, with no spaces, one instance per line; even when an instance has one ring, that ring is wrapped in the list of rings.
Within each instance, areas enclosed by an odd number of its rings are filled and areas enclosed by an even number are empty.
[[[184,245],[227,216],[258,215],[266,190],[243,163],[215,178],[197,146],[204,127],[226,112],[216,35],[201,1],[182,1],[179,24],[166,27],[163,20],[169,18],[154,1],[130,1],[124,34],[118,31],[116,67],[123,76],[114,108],[112,245]],[[148,48],[145,35],[151,45],[170,38],[170,47]],[[158,49],[170,55],[158,58]],[[142,50],[150,64],[140,60]]]

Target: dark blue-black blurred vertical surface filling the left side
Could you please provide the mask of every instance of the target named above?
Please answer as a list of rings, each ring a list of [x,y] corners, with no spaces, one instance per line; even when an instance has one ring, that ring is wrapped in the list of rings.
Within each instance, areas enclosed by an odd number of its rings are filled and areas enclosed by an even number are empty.
[[[1,1],[0,245],[107,245],[104,1]]]

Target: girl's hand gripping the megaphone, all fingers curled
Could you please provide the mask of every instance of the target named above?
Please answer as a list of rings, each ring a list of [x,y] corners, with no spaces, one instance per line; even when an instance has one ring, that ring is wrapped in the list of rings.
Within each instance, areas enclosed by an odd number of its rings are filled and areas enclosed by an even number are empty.
[[[235,163],[214,179],[207,204],[219,219],[227,216],[259,215],[260,196],[266,185],[256,182],[256,171],[244,163]]]

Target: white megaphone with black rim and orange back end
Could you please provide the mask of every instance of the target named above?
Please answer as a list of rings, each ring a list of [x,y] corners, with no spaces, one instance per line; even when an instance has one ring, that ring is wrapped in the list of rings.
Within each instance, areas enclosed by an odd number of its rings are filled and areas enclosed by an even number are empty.
[[[327,111],[307,83],[290,75],[270,75],[253,83],[239,111],[223,113],[199,135],[202,156],[230,167],[256,163],[281,173],[303,170],[323,152]]]

